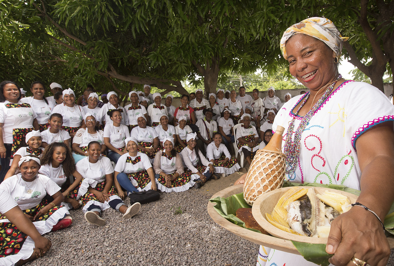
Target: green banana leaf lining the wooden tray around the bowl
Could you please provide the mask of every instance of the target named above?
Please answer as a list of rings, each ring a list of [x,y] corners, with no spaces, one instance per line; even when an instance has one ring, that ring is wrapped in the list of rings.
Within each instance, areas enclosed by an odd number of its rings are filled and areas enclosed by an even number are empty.
[[[357,189],[352,189],[346,187],[344,185],[336,185],[336,184],[320,184],[320,183],[291,183],[291,182],[284,182],[283,187],[291,187],[291,186],[310,186],[310,187],[327,187],[331,189],[338,189],[341,191],[346,191],[352,193],[354,195],[359,196],[360,192]],[[214,205],[214,209],[218,214],[222,217],[234,223],[235,225],[239,225],[240,227],[252,230],[254,232],[259,232],[259,230],[247,228],[245,227],[245,223],[238,219],[235,216],[236,210],[239,208],[251,208],[249,204],[243,199],[243,193],[232,195],[228,198],[221,198],[216,197],[215,199],[209,200],[212,203],[216,203]],[[389,234],[394,235],[394,204],[391,206],[389,214],[386,216],[384,225],[386,227],[386,231]],[[292,241],[293,245],[296,247],[297,251],[308,261],[313,262],[318,265],[328,266],[330,263],[328,259],[332,256],[325,252],[325,244],[309,244],[303,242]]]

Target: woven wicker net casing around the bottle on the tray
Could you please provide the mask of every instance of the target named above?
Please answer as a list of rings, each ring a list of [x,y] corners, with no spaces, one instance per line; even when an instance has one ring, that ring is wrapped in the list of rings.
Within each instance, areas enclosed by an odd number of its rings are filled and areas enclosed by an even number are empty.
[[[253,205],[259,195],[282,187],[285,159],[281,151],[262,149],[256,152],[243,185],[243,199],[249,205]]]

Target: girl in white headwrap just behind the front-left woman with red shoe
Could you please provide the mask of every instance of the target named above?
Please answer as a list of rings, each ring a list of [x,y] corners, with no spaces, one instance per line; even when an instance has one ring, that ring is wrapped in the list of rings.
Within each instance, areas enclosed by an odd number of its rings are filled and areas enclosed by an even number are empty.
[[[6,176],[4,179],[7,179],[15,174],[18,170],[18,163],[19,159],[23,156],[26,156],[28,154],[34,154],[37,156],[40,156],[41,153],[43,152],[44,148],[40,148],[41,146],[41,133],[40,131],[30,131],[29,133],[26,134],[26,144],[28,144],[28,147],[22,147],[17,150],[14,154],[14,159],[11,161],[11,167],[9,168]]]

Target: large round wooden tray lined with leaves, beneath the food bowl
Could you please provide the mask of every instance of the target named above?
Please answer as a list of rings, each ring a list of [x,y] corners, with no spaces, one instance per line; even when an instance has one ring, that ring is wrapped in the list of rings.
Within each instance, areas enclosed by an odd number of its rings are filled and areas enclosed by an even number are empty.
[[[234,185],[217,192],[215,195],[211,197],[211,199],[214,199],[216,197],[227,198],[230,197],[231,195],[238,194],[241,192],[243,192],[243,184]],[[299,255],[299,252],[297,251],[296,247],[294,247],[293,243],[290,240],[284,240],[281,238],[276,238],[274,236],[253,232],[251,230],[245,229],[238,225],[234,225],[230,221],[227,221],[227,219],[221,217],[216,212],[216,210],[214,209],[214,203],[212,202],[208,202],[208,214],[218,225],[236,234],[237,236],[249,240],[250,242]],[[388,243],[390,244],[390,248],[393,249],[394,237],[389,236],[387,240]]]

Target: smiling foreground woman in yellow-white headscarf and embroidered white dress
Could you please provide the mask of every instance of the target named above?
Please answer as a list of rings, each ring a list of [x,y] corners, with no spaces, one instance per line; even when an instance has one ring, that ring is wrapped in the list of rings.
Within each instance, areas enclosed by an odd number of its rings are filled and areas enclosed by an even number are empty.
[[[390,246],[379,219],[384,220],[394,200],[394,107],[374,86],[346,81],[339,74],[346,39],[333,22],[319,17],[284,32],[281,49],[290,73],[309,91],[283,105],[272,130],[285,128],[286,180],[361,190],[357,201],[368,210],[355,205],[332,221],[326,245],[327,253],[333,254],[329,262],[383,266]],[[379,108],[370,105],[370,99],[379,102]],[[235,184],[243,180],[244,176]],[[270,258],[269,264],[315,265],[270,248],[260,253]],[[266,261],[259,256],[259,265]]]

